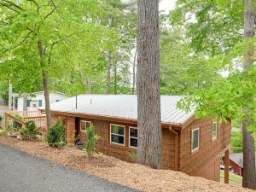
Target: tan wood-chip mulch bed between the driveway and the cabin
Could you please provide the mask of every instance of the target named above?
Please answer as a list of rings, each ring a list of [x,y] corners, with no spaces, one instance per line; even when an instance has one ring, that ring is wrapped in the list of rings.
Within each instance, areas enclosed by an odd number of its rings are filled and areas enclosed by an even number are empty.
[[[128,163],[104,154],[94,154],[90,159],[84,151],[75,148],[50,148],[47,143],[25,142],[5,136],[0,136],[0,143],[51,160],[55,164],[88,172],[143,191],[252,191],[202,177],[189,177],[183,172],[154,170],[148,166]]]

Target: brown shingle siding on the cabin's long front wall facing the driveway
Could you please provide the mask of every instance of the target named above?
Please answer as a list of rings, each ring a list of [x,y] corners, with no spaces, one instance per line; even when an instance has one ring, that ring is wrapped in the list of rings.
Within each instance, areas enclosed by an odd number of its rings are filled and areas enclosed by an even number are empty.
[[[76,130],[80,136],[79,141],[86,141],[86,133],[80,131],[80,120],[86,120],[93,123],[95,132],[101,138],[96,142],[96,150],[103,154],[119,158],[120,160],[131,161],[129,154],[136,153],[136,148],[129,147],[129,126],[137,127],[136,124],[127,124],[116,121],[79,118],[79,126],[75,128],[75,118],[67,117],[67,143],[74,143],[73,132]],[[57,116],[55,116],[55,119]],[[110,143],[110,124],[125,125],[125,146]],[[175,137],[168,129],[162,129],[162,153],[163,166],[165,169],[175,170]]]

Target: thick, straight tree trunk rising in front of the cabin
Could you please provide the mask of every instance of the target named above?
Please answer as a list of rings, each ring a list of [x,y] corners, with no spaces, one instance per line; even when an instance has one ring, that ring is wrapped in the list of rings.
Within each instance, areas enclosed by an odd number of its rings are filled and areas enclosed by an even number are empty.
[[[159,1],[137,1],[137,162],[160,169]]]

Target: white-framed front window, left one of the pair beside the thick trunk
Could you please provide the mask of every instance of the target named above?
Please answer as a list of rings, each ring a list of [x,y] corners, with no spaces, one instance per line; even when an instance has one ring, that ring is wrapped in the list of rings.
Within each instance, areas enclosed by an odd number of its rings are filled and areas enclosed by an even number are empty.
[[[125,145],[124,125],[110,125],[110,143]]]

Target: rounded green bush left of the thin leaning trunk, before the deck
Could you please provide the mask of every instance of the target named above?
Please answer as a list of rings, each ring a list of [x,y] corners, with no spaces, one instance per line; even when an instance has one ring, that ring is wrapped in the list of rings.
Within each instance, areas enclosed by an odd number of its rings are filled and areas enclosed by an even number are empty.
[[[25,128],[20,130],[20,135],[23,140],[35,141],[39,134],[38,127],[33,120],[25,123]]]

